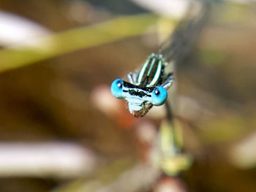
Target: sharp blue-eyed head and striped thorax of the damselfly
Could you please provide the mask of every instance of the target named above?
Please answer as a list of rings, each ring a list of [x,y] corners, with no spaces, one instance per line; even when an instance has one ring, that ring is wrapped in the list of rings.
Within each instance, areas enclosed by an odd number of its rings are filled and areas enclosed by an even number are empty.
[[[165,72],[167,62],[162,54],[148,56],[140,72],[127,74],[128,80],[115,80],[111,91],[118,99],[126,99],[129,112],[135,117],[143,117],[153,106],[165,103],[167,89],[172,85],[172,73]]]

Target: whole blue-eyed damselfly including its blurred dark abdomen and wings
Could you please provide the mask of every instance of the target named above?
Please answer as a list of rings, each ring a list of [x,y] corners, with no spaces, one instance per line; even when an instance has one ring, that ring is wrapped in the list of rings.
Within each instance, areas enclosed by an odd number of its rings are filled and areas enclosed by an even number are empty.
[[[178,61],[192,47],[204,17],[201,12],[199,17],[183,20],[168,39],[170,43],[167,40],[160,46],[158,54],[149,55],[140,72],[127,74],[129,82],[121,79],[113,81],[113,95],[127,100],[132,115],[143,117],[151,107],[165,103],[167,90],[173,84],[173,72],[167,72],[166,66]]]

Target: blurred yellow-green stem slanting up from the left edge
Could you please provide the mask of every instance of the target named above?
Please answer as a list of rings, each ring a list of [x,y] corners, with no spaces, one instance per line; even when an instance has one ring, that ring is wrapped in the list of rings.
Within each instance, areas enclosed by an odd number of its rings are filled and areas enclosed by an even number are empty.
[[[118,39],[137,36],[155,23],[155,15],[120,17],[94,26],[76,28],[40,39],[34,47],[17,46],[0,51],[0,72],[34,64],[46,58],[82,48],[99,46]],[[154,32],[154,29],[148,32]]]

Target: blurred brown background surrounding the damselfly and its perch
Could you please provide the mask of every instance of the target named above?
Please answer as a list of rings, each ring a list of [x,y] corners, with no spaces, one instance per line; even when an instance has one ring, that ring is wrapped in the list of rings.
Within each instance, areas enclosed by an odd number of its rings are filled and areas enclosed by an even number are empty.
[[[143,166],[165,109],[134,118],[110,93],[188,4],[1,0],[0,191],[256,191],[254,1],[214,2],[176,66],[175,125],[193,158],[178,177]]]

